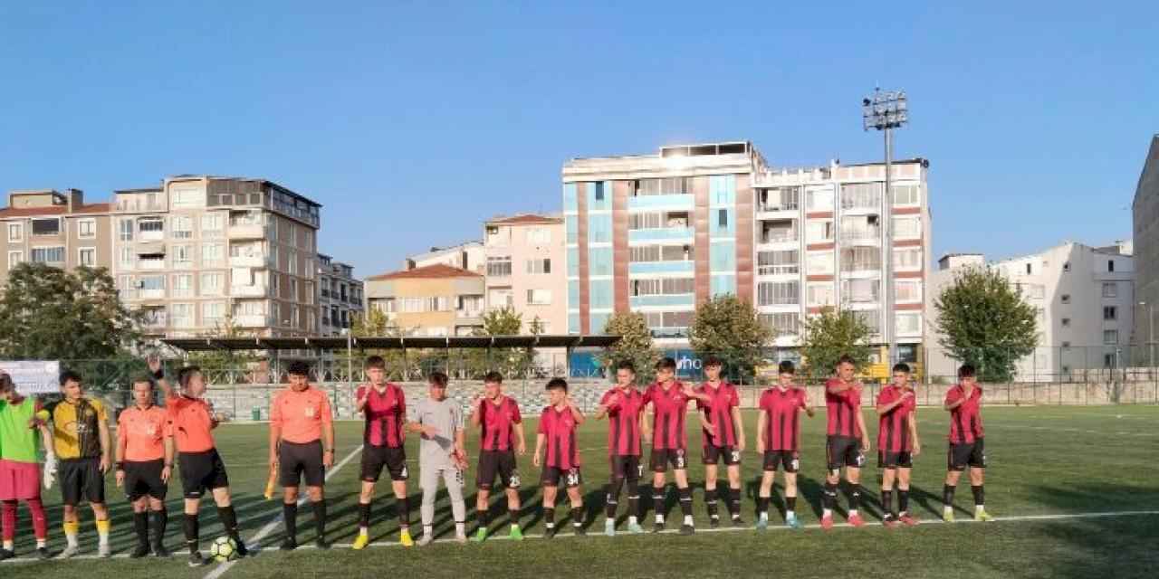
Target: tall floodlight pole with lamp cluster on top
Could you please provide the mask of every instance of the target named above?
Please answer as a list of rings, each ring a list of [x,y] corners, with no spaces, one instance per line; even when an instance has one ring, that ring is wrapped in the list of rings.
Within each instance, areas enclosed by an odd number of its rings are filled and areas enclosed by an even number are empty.
[[[894,162],[894,130],[910,120],[910,105],[904,90],[874,88],[873,95],[861,100],[861,126],[881,131],[885,138],[885,195],[884,229],[885,261],[883,278],[885,284],[885,344],[889,366],[897,362],[897,321],[894,320],[894,191],[890,188],[890,166]]]

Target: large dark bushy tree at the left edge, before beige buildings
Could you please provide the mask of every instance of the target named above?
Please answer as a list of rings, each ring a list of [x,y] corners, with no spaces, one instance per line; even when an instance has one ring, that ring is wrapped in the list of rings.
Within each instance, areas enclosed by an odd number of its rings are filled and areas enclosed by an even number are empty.
[[[21,263],[0,299],[0,356],[81,360],[126,354],[140,340],[143,317],[119,300],[104,267],[72,272]]]

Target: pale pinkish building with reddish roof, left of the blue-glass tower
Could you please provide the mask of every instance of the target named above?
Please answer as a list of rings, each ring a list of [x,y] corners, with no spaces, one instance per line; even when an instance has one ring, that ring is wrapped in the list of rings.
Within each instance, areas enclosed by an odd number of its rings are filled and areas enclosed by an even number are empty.
[[[562,334],[567,328],[568,280],[563,276],[563,219],[522,214],[483,225],[488,308],[523,314],[520,332]]]

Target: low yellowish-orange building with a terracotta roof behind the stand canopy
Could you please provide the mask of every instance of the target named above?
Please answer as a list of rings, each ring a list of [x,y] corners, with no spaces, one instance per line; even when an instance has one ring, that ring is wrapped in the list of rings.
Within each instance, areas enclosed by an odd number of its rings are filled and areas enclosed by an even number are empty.
[[[406,336],[471,336],[483,328],[483,276],[442,263],[365,280],[366,307]]]

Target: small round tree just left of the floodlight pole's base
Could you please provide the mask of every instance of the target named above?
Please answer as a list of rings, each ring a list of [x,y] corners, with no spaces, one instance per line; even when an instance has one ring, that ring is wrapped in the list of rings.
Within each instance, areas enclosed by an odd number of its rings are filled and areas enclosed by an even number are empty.
[[[802,325],[801,356],[809,376],[829,375],[841,356],[850,356],[859,367],[869,361],[870,329],[855,312],[826,307]]]

